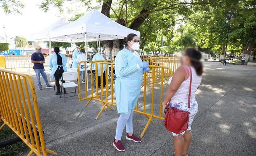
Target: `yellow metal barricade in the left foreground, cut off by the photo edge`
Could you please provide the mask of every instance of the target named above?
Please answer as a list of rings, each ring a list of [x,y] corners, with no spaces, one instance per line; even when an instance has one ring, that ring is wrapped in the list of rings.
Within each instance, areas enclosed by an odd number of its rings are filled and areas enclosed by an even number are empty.
[[[32,99],[30,99],[32,98]],[[29,75],[0,69],[0,117],[31,149],[28,156],[56,154],[46,149],[34,83]]]

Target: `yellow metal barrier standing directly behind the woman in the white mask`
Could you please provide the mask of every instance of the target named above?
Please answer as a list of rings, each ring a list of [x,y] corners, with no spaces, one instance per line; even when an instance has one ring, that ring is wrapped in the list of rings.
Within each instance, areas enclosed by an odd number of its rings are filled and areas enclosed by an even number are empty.
[[[90,68],[87,69],[88,71],[92,73],[93,70],[95,70],[96,75],[94,76],[91,74],[90,76],[85,75],[85,84],[80,83],[80,78],[79,78],[79,101],[83,100],[88,100],[85,106],[89,105],[92,100],[99,101],[102,105],[101,110],[99,111],[97,117],[95,119],[98,119],[101,113],[105,110],[106,108],[109,108],[110,110],[113,110],[113,106],[116,106],[116,96],[114,94],[114,63],[108,63],[108,62],[100,62],[100,61],[84,61],[80,62],[81,63],[89,63],[92,67],[93,64],[95,64],[95,69]],[[98,72],[98,67],[100,69],[100,77],[97,76]],[[105,74],[107,75],[104,76],[104,70],[103,67],[105,67]],[[169,78],[173,75],[172,70],[169,67],[161,67],[161,66],[154,66],[150,65],[150,73],[144,72],[143,75],[143,84],[142,84],[142,92],[140,94],[140,98],[138,100],[138,103],[136,105],[136,108],[134,112],[143,114],[147,117],[148,121],[143,129],[142,134],[140,137],[143,137],[144,133],[146,132],[146,129],[150,123],[154,123],[153,118],[156,119],[161,119],[163,120],[164,118],[162,117],[162,99],[163,99],[163,91],[164,88],[167,89],[167,76],[165,73],[170,73],[168,76]],[[78,72],[80,72],[80,69],[78,69]],[[160,75],[158,77],[158,74]],[[98,85],[98,82],[100,81],[100,86]],[[106,81],[106,86],[103,87],[103,79]],[[151,80],[152,83],[148,84],[148,80]],[[85,87],[85,94],[82,95],[82,90],[81,87],[84,85]],[[89,85],[90,89],[86,89],[87,85]],[[151,92],[149,89],[147,89],[147,85],[151,86]],[[156,87],[156,85],[159,85],[160,87]],[[155,100],[155,97],[160,97],[159,101]],[[112,105],[112,107],[111,107]]]

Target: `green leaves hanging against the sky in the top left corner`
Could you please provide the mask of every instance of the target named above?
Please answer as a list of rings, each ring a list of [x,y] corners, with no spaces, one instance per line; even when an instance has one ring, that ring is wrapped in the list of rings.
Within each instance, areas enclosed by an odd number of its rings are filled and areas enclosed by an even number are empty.
[[[0,0],[0,8],[4,9],[5,13],[20,13],[19,9],[22,9],[24,4],[20,0]]]

